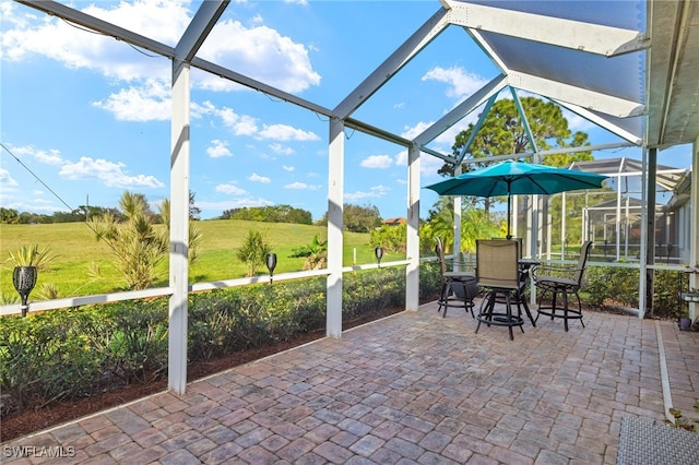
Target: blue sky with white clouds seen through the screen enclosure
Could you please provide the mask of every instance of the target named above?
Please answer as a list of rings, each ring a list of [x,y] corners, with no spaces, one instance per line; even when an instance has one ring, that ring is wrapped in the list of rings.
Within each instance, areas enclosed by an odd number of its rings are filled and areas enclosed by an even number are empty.
[[[70,4],[175,46],[199,3]],[[199,55],[332,109],[439,8],[437,0],[232,1]],[[0,140],[12,152],[0,156],[0,205],[51,214],[117,206],[126,190],[153,203],[168,198],[169,61],[14,2],[0,0]],[[410,139],[496,74],[451,27],[354,117]],[[274,204],[310,211],[313,219],[324,214],[324,117],[198,70],[191,102],[190,182],[202,218]],[[451,153],[470,121],[430,146]],[[580,118],[569,123],[593,144],[617,141]],[[384,218],[405,216],[405,151],[352,130],[345,150],[345,202],[376,205]],[[640,151],[594,155],[639,158]],[[659,157],[673,167],[690,162],[688,147]],[[440,180],[441,165],[423,155],[420,184]],[[420,195],[426,217],[437,196],[425,189]]]

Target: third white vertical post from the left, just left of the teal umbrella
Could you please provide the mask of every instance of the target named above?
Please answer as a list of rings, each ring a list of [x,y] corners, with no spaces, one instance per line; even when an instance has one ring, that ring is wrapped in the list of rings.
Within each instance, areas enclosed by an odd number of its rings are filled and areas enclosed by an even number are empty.
[[[460,239],[461,240],[461,239]],[[405,267],[405,310],[419,307],[419,148],[407,151],[407,238]]]

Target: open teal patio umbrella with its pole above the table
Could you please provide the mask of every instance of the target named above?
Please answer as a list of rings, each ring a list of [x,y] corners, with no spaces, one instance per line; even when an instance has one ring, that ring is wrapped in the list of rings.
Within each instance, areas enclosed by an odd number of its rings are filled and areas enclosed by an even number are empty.
[[[507,160],[426,186],[425,189],[440,195],[507,195],[507,236],[511,237],[513,194],[550,195],[579,189],[599,189],[605,179],[606,176],[593,172]]]

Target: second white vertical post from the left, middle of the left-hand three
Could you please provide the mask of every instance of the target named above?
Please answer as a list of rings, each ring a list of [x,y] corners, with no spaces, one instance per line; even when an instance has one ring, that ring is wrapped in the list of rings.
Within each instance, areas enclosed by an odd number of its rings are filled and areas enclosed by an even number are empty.
[[[342,248],[343,248],[343,190],[345,164],[345,124],[330,119],[330,147],[328,153],[328,282],[325,335],[342,336]]]

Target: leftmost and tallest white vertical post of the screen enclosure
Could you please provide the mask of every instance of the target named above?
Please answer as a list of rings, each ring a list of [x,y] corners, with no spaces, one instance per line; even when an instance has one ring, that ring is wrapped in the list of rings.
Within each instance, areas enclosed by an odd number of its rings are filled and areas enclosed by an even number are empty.
[[[173,60],[170,135],[170,263],[168,390],[187,388],[187,295],[189,287],[189,63]]]

